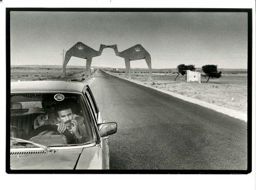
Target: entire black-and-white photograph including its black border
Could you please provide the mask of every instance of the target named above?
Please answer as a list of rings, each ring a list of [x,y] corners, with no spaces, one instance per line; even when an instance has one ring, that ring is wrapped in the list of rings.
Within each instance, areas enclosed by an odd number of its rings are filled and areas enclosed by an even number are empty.
[[[252,9],[5,11],[7,174],[254,170]]]

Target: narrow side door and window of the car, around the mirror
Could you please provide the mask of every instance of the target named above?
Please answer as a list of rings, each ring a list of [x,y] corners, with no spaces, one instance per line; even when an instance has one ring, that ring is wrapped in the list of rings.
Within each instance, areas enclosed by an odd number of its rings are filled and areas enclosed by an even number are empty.
[[[102,118],[101,118],[101,114],[100,111],[98,109],[98,106],[96,104],[96,101],[93,97],[92,91],[89,88],[89,86],[87,86],[86,90],[84,91],[84,95],[86,96],[86,98],[89,100],[89,104],[90,107],[93,111],[93,116],[94,116],[94,120],[97,122],[97,124],[102,123]],[[104,154],[104,158],[105,158],[105,163],[106,163],[106,168],[109,169],[109,144],[108,144],[108,136],[106,137],[100,137],[100,147],[103,151]]]

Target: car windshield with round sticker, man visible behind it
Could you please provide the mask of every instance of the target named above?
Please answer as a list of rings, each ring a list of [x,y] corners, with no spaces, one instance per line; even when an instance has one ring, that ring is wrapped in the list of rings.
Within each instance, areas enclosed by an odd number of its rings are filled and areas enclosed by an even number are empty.
[[[10,137],[23,139],[12,139],[11,148],[36,147],[35,143],[47,147],[73,146],[96,139],[81,94],[12,94],[10,121]]]

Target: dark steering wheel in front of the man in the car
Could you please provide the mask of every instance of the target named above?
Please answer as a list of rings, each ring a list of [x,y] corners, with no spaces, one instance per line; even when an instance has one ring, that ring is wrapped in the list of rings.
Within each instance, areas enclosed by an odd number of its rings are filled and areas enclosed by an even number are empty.
[[[42,125],[36,129],[34,129],[30,134],[29,134],[29,139],[38,135],[42,131],[58,131],[58,126],[57,125]],[[75,136],[70,133],[69,130],[65,130],[63,134],[71,141],[73,142],[75,139]]]

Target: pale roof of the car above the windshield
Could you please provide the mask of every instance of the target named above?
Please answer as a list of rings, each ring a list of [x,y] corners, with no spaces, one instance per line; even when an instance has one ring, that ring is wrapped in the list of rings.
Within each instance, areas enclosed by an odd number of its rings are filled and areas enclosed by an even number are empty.
[[[74,81],[18,81],[11,82],[13,92],[78,92],[87,86],[86,82]]]

